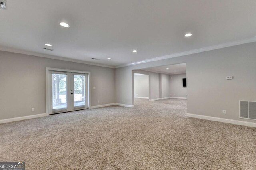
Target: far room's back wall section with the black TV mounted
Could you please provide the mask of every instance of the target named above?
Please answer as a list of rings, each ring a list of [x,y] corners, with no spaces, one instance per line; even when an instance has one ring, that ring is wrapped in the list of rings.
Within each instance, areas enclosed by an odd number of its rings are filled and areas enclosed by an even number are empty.
[[[187,97],[187,88],[183,87],[182,79],[186,74],[170,75],[170,97]]]

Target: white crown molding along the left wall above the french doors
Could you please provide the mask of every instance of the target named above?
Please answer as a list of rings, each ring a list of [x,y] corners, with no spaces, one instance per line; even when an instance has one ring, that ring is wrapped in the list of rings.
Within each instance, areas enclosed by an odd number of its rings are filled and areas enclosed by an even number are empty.
[[[78,60],[78,59],[71,59],[71,58],[59,57],[59,56],[55,56],[55,55],[47,55],[47,54],[36,53],[36,52],[30,52],[30,51],[25,51],[25,50],[20,50],[20,49],[13,49],[13,48],[0,47],[0,51],[6,51],[6,52],[12,52],[12,53],[20,53],[20,54],[26,54],[26,55],[33,55],[33,56],[37,56],[37,57],[44,57],[44,58],[50,58],[50,59],[58,59],[58,60],[70,61],[70,62],[74,62],[74,63],[82,63],[82,64],[88,64],[88,65],[96,65],[96,66],[108,67],[108,68],[112,68],[112,69],[115,68],[114,66],[110,66],[110,65],[91,63],[91,62],[82,61],[82,60]]]

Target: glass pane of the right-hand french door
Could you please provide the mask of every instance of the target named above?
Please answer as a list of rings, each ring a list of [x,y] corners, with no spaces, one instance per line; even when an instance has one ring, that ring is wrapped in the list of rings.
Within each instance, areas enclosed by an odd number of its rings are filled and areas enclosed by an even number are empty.
[[[74,75],[74,107],[85,106],[85,75]]]

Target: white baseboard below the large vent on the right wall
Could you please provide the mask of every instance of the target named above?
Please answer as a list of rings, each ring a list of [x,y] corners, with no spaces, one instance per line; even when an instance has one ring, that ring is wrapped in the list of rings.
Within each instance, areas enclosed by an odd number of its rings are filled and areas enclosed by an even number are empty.
[[[248,126],[248,127],[256,127],[256,123],[246,122],[246,121],[238,121],[238,120],[234,120],[234,119],[225,119],[225,118],[220,118],[220,117],[196,115],[196,114],[191,114],[191,113],[187,113],[187,117],[194,117],[194,118],[198,118],[198,119],[206,119],[206,120],[209,120],[209,121],[231,123],[231,124],[235,124],[235,125],[243,125],[243,126]]]

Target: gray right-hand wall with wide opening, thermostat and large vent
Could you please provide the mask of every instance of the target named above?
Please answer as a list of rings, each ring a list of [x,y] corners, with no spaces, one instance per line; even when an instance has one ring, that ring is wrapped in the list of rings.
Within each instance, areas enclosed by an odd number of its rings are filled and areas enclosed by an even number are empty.
[[[115,69],[116,103],[133,105],[132,70],[186,63],[188,113],[256,122],[240,119],[238,106],[239,100],[256,101],[255,46],[253,42]],[[228,75],[234,79],[226,80]]]

